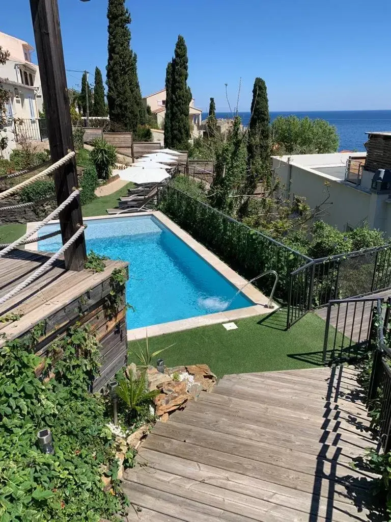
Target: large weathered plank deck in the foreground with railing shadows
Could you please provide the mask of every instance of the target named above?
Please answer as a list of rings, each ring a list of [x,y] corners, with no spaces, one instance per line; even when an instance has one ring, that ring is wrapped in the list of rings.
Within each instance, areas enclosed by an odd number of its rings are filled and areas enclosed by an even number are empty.
[[[349,467],[374,445],[360,398],[347,367],[225,376],[146,438],[128,520],[369,520],[370,476]]]

